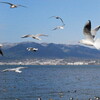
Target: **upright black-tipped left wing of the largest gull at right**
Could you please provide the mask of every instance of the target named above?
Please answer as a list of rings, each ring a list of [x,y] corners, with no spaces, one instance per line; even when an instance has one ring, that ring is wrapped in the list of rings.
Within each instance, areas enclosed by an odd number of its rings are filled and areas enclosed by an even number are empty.
[[[87,40],[93,41],[93,36],[91,35],[91,21],[90,20],[88,20],[88,22],[85,24],[83,33]]]

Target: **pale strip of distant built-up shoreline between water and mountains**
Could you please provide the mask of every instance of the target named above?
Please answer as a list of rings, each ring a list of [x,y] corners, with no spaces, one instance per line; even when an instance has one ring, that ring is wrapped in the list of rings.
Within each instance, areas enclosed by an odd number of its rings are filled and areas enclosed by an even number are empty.
[[[100,65],[100,62],[96,60],[67,61],[67,59],[31,59],[0,62],[0,65]]]

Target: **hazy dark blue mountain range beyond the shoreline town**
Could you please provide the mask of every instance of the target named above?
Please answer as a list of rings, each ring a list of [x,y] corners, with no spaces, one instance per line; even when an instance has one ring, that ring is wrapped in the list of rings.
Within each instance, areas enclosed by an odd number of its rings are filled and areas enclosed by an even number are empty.
[[[29,52],[27,47],[35,47],[37,52]],[[21,60],[33,58],[84,58],[99,59],[100,51],[81,45],[65,45],[65,44],[43,44],[35,42],[22,42],[4,45],[2,48],[4,57],[0,56],[0,61]]]

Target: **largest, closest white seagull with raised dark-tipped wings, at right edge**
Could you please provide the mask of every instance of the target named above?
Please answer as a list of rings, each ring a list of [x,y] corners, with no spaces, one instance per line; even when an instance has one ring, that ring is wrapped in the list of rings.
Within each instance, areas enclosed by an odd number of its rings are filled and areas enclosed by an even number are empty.
[[[94,39],[96,32],[98,30],[99,30],[99,27],[91,31],[91,21],[88,20],[88,22],[85,24],[83,28],[83,34],[85,36],[85,39],[80,40],[79,43],[82,43],[88,46],[94,46],[96,49],[100,49],[100,38]]]

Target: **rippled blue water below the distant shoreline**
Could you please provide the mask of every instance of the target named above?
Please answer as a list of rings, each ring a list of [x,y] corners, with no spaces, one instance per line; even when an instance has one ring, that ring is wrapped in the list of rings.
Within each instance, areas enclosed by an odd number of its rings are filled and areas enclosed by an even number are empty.
[[[0,70],[21,66],[0,66]],[[0,72],[0,100],[88,100],[100,96],[100,66],[23,66]]]

